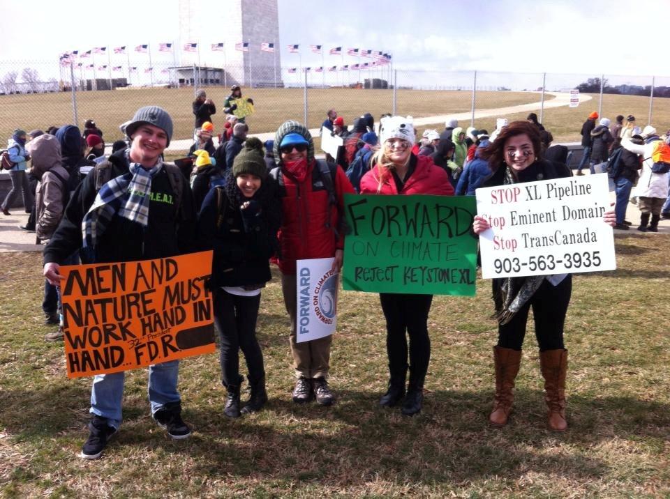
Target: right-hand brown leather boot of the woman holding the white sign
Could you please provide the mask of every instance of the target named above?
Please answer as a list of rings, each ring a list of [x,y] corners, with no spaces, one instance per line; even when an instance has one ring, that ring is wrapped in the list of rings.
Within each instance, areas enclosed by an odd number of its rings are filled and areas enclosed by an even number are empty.
[[[546,423],[550,430],[565,431],[565,374],[567,350],[546,350],[539,353],[539,367],[544,377],[544,400],[548,408]]]

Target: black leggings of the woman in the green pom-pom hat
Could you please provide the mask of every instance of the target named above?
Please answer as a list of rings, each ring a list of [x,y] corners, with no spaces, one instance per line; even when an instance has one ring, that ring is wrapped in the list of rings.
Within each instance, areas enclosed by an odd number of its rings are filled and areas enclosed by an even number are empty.
[[[214,321],[221,338],[221,371],[223,385],[239,386],[239,351],[249,370],[249,381],[255,383],[265,376],[263,353],[256,339],[256,319],[260,293],[239,296],[223,289],[214,294]]]

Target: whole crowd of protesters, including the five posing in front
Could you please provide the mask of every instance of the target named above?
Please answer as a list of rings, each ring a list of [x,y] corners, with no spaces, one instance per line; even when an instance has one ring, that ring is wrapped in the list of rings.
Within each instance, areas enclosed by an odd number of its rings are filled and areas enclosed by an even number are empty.
[[[104,153],[103,132],[91,120],[83,132],[75,125],[64,125],[52,133],[31,132],[29,141],[28,134],[15,130],[10,143],[11,158],[16,163],[14,173],[10,172],[15,190],[2,205],[7,215],[13,196],[23,189],[27,211],[35,207],[34,230],[40,240],[47,241],[43,312],[47,323],[59,323],[59,330],[47,335],[51,341],[64,335],[59,312],[60,266],[213,250],[210,287],[226,390],[224,414],[232,418],[262,410],[268,400],[256,325],[262,289],[271,280],[271,262],[281,273],[283,300],[291,323],[288,343],[295,374],[292,400],[296,404],[315,400],[322,406],[336,401],[328,381],[333,337],[297,341],[296,264],[301,259],[332,258],[332,270],[341,270],[344,194],[473,195],[477,187],[572,175],[566,163],[567,148],[551,145],[551,132],[533,113],[526,121],[510,123],[499,118],[491,134],[471,127],[464,130],[450,119],[442,132],[425,130],[417,140],[409,116],[385,115],[375,123],[366,113],[356,118],[349,130],[343,117],[329,109],[322,133],[337,135],[343,141],[335,157],[327,155],[323,160],[315,154],[310,132],[296,121],[283,123],[274,139],[265,144],[248,137],[248,125],[230,114],[234,111],[232,101],[238,98],[239,87],[232,89],[224,105],[226,125],[215,146],[211,119],[216,107],[204,91],[198,92],[193,102],[193,146],[187,158],[174,164],[164,160],[165,148],[172,139],[172,118],[156,106],[138,109],[122,125],[126,141],[114,143],[109,156]],[[589,117],[588,121],[593,121],[590,129],[585,124],[589,149],[585,146],[587,159],[582,160],[577,174],[589,158],[609,160],[620,146],[625,150],[620,155],[625,165],[620,177],[633,183],[640,160],[643,165],[650,162],[647,156],[660,137],[650,126],[636,131],[622,122],[620,128],[610,129],[609,121],[602,119],[595,126],[595,119],[597,116]],[[631,122],[634,118],[628,120]],[[618,137],[610,140],[614,135]],[[28,161],[32,162],[29,175],[34,188],[25,173]],[[650,169],[651,164],[647,166]],[[638,185],[646,182],[647,166],[643,166]],[[638,198],[643,220],[645,213],[647,220],[651,215],[651,224],[645,223],[645,227],[654,230],[656,214],[664,208],[662,202],[649,198],[659,194],[664,201],[668,174],[650,173],[648,177],[650,183],[658,183],[658,192],[639,190]],[[623,190],[625,183],[618,179],[614,179],[617,188],[621,185]],[[616,209],[605,213],[604,222],[618,226],[625,223],[621,216],[617,203]],[[486,219],[475,217],[472,232],[478,235],[487,229]],[[504,426],[512,409],[532,308],[547,424],[555,431],[567,429],[563,328],[571,292],[569,274],[493,279],[498,319],[498,342],[493,347],[496,389],[489,415],[493,426]],[[379,403],[401,406],[401,413],[407,416],[422,410],[431,356],[428,318],[432,300],[428,294],[380,293],[389,382]],[[244,404],[240,351],[251,388]],[[176,360],[149,367],[151,415],[174,439],[191,435],[181,418],[178,371]],[[118,431],[123,392],[123,372],[94,377],[90,434],[81,452],[85,459],[101,456]]]

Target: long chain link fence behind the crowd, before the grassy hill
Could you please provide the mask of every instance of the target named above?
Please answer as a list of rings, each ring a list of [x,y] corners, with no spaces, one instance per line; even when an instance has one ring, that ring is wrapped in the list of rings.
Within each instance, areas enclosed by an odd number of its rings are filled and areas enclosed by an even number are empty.
[[[386,66],[290,68],[174,66],[112,61],[98,57],[62,66],[51,61],[0,63],[0,141],[15,128],[46,130],[51,125],[96,121],[108,144],[121,139],[119,125],[144,105],[158,105],[174,121],[172,148],[188,148],[193,137],[192,102],[204,89],[214,100],[216,132],[225,116],[223,101],[232,84],[253,98],[246,118],[251,133],[271,133],[295,119],[319,128],[328,109],[345,123],[365,112],[414,116],[417,129],[438,131],[456,116],[463,127],[492,132],[496,118],[525,119],[535,112],[556,141],[579,141],[581,123],[592,111],[614,121],[633,114],[643,126],[670,128],[670,77],[560,75],[550,73],[403,70]],[[579,107],[569,91],[579,89]],[[4,143],[4,142],[3,142]]]

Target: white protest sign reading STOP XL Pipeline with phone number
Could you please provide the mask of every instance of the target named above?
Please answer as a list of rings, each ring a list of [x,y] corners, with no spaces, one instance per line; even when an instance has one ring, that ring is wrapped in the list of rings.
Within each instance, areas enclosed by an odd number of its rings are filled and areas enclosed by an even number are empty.
[[[614,235],[605,174],[527,182],[475,191],[482,277],[614,270]]]

